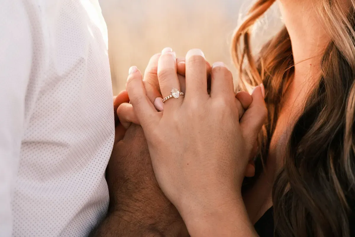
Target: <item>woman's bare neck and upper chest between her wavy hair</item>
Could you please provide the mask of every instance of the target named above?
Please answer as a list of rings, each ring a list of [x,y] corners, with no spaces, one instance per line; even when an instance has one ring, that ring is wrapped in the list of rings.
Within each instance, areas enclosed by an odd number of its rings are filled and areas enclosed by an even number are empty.
[[[315,14],[314,2],[279,1],[283,21],[292,43],[295,74],[286,92],[284,107],[271,140],[267,166],[256,184],[244,195],[245,205],[253,223],[273,205],[273,182],[278,170],[283,166],[285,155],[285,149],[282,147],[285,147],[289,139],[290,129],[304,107],[310,88],[318,80],[321,56],[330,41]]]

